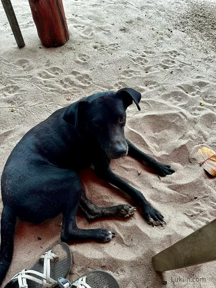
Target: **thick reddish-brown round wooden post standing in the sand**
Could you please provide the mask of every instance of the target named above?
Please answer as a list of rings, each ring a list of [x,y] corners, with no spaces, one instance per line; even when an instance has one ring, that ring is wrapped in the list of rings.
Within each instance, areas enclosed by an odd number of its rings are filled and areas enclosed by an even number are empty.
[[[69,39],[62,0],[29,0],[41,43],[47,47],[64,45]]]

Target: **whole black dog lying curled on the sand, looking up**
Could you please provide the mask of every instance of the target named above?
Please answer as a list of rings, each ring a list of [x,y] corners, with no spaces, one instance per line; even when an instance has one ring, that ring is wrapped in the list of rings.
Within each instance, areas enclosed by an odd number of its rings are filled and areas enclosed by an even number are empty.
[[[127,155],[144,161],[165,176],[175,172],[132,145],[124,136],[126,109],[141,94],[131,88],[117,93],[93,94],[54,112],[32,128],[11,152],[1,179],[4,208],[1,219],[0,283],[13,253],[15,220],[40,223],[63,213],[62,241],[95,239],[110,241],[106,229],[79,229],[78,206],[88,220],[107,216],[130,216],[134,207],[100,208],[86,198],[77,171],[93,164],[97,175],[126,192],[143,211],[149,224],[163,225],[163,216],[140,191],[118,178],[110,159]],[[165,223],[165,222],[164,222]]]

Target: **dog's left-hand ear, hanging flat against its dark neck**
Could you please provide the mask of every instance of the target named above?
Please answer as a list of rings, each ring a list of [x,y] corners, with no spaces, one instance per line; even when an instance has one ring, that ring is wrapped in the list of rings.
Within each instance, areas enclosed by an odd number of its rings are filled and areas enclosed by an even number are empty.
[[[85,121],[85,104],[86,99],[82,99],[68,106],[62,115],[64,121],[74,124],[74,128],[78,129],[78,126]]]

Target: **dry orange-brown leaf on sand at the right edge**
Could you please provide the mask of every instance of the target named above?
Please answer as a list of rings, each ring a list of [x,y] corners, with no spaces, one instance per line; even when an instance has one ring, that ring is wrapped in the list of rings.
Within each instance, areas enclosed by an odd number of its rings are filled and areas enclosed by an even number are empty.
[[[202,148],[198,150],[198,153],[201,155],[202,161],[200,165],[203,169],[209,174],[216,176],[216,152],[206,146],[202,146]]]

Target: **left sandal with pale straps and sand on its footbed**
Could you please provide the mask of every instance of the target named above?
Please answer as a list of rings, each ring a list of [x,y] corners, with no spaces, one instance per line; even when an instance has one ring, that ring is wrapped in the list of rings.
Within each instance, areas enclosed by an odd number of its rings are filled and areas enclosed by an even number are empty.
[[[4,288],[54,288],[67,277],[72,265],[70,247],[61,242],[40,256],[31,270],[23,269]]]

